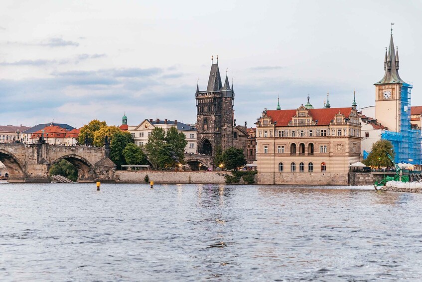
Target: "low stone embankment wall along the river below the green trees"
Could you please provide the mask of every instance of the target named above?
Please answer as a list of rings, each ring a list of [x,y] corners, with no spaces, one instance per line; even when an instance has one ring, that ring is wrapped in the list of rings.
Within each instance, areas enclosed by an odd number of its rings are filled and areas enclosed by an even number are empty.
[[[145,175],[154,183],[225,184],[228,172],[217,171],[116,171],[117,183],[145,183]]]

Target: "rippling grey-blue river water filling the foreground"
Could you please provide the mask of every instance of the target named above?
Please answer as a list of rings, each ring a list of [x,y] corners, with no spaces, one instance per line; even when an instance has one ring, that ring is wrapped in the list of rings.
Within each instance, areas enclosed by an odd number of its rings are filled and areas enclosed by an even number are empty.
[[[421,194],[1,184],[0,281],[420,281]]]

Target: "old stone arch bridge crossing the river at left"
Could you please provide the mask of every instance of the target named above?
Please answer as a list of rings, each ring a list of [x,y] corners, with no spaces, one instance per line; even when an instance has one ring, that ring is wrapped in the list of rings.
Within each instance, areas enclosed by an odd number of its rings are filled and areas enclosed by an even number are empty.
[[[105,147],[58,146],[49,144],[0,143],[0,161],[6,166],[8,182],[49,182],[50,167],[66,159],[78,170],[78,182],[114,182],[116,165]],[[185,154],[186,163],[212,166],[212,157]]]

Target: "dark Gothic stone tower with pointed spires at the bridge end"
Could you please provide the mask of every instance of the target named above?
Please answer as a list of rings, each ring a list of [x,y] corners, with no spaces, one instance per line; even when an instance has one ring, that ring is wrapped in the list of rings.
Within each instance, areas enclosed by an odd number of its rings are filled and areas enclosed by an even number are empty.
[[[221,83],[220,69],[213,63],[206,91],[199,91],[196,86],[196,142],[200,154],[214,155],[216,146],[225,150],[233,146],[233,84],[229,85],[227,76]]]

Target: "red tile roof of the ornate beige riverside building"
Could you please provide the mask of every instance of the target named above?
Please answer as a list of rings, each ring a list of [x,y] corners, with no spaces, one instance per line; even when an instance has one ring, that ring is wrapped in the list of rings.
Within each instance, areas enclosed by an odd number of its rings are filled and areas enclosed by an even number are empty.
[[[287,126],[288,122],[296,115],[297,110],[268,110],[267,115],[271,117],[273,122],[277,121],[277,126]],[[348,117],[352,108],[322,108],[309,109],[309,115],[313,121],[318,121],[318,125],[329,125],[334,116],[339,112]]]

